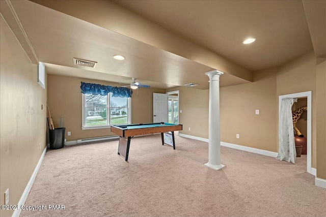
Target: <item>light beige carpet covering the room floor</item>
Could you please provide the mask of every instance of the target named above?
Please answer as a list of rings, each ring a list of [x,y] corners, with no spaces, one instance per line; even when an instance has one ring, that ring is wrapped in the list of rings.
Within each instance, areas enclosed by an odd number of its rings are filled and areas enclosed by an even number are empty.
[[[204,166],[208,143],[160,135],[48,150],[20,216],[326,216],[326,189],[314,185],[306,156],[297,165],[221,147],[219,171]]]

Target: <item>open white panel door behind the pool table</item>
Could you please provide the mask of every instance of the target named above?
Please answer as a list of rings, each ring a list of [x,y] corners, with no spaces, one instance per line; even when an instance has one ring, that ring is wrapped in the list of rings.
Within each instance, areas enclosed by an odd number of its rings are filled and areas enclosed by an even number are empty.
[[[168,122],[167,94],[153,94],[153,122]]]

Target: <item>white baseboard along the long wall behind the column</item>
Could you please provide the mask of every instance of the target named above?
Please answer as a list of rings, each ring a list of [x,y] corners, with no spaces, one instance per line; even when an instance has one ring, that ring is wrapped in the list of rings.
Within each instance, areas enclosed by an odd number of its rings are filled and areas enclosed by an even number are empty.
[[[201,137],[197,137],[197,136],[190,136],[190,135],[181,134],[181,133],[179,134],[179,136],[189,138],[189,139],[196,139],[196,140],[203,141],[203,142],[209,141],[208,139],[205,139],[205,138],[201,138]],[[253,153],[258,153],[258,154],[262,154],[262,155],[273,157],[273,158],[276,158],[277,154],[278,154],[277,152],[273,152],[273,151],[267,151],[267,150],[247,147],[247,146],[243,146],[243,145],[236,145],[236,144],[227,143],[227,142],[221,142],[221,146],[234,148],[234,149],[238,149],[238,150],[243,150],[243,151],[248,151],[248,152],[253,152]]]

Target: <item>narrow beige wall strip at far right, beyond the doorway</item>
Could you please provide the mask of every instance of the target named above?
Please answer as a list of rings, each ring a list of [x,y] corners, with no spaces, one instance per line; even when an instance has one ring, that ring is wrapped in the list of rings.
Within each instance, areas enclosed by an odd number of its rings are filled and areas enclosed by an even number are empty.
[[[326,60],[316,67],[317,177],[326,180]]]

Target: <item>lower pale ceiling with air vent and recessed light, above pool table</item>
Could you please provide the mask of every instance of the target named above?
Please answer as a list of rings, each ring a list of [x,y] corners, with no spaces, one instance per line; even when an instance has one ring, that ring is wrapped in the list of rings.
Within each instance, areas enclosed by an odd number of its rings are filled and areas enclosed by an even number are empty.
[[[209,88],[205,73],[213,68],[29,1],[11,3],[39,60],[51,66],[50,74],[112,79],[121,83],[130,83],[133,77],[159,88],[195,82],[200,84],[195,88]],[[126,60],[113,58],[121,53]],[[94,69],[75,66],[73,57],[98,64]],[[75,69],[82,71],[78,73]],[[226,76],[223,80],[221,85],[248,82],[235,76]]]

